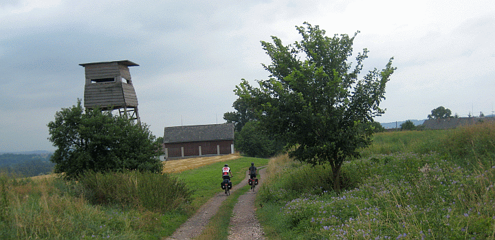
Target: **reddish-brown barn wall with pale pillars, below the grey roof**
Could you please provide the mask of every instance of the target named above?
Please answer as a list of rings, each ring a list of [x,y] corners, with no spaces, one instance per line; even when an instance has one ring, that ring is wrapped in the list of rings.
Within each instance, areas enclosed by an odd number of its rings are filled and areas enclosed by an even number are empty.
[[[181,147],[184,147],[184,156],[199,156],[199,146],[201,146],[201,156],[217,155],[217,145],[220,146],[220,155],[231,154],[232,140],[221,141],[201,141],[190,143],[164,143],[167,149],[168,158],[178,158],[182,156]]]

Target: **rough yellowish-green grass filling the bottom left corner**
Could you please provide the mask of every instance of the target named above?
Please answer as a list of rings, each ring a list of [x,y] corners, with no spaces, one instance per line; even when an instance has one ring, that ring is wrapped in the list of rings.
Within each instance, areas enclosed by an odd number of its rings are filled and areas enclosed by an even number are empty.
[[[94,206],[61,193],[57,186],[63,183],[54,178],[2,181],[8,215],[0,239],[148,239],[161,227],[157,213]]]

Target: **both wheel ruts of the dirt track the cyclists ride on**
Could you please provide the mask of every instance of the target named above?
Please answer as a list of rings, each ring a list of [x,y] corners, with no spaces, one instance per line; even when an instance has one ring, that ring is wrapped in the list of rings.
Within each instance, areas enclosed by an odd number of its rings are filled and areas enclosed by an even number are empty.
[[[260,173],[263,173],[264,169],[260,170]],[[232,187],[231,191],[236,191],[242,187],[244,187],[246,184],[248,184],[248,179],[249,176],[247,176],[244,180],[241,181],[241,183],[236,184]],[[259,185],[256,186],[256,188],[259,188],[261,186],[261,178],[259,180]],[[254,236],[262,236],[263,235],[263,230],[261,230],[261,226],[257,219],[255,217],[245,217],[245,216],[254,216],[254,198],[256,197],[256,191],[248,191],[245,194],[241,195],[239,197],[239,202],[234,206],[234,211],[232,219],[230,219],[230,225],[232,226],[230,228],[230,236],[229,239],[263,239],[263,237],[254,237]],[[175,240],[175,239],[181,239],[181,240],[189,240],[189,239],[194,239],[195,237],[198,237],[201,235],[201,232],[203,232],[205,226],[208,224],[210,221],[210,218],[217,213],[217,211],[220,208],[221,203],[223,200],[227,199],[225,197],[225,193],[217,193],[212,197],[206,204],[203,204],[201,208],[197,211],[195,215],[190,217],[188,221],[186,221],[184,224],[180,226],[180,228],[177,228],[175,232],[173,233],[172,236],[168,237],[166,240]],[[244,216],[244,217],[243,217]],[[248,220],[248,221],[247,221]],[[255,222],[253,222],[255,221]],[[246,230],[249,226],[249,230]],[[258,226],[256,228],[253,228],[253,226]],[[239,234],[245,234],[251,232],[248,236],[245,235],[239,235]]]

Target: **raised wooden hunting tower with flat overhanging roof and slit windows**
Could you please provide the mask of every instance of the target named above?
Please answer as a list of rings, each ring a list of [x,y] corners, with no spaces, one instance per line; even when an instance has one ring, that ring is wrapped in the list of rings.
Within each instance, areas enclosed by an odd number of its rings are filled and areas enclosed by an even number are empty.
[[[84,106],[87,109],[119,110],[122,117],[137,119],[137,97],[129,67],[139,66],[129,60],[79,64],[85,68]]]

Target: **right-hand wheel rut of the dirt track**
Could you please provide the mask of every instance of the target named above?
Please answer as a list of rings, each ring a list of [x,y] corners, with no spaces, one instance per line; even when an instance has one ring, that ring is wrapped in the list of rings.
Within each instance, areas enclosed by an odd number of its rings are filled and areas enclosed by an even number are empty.
[[[260,175],[263,176],[264,173],[265,169],[261,169]],[[232,211],[233,217],[230,219],[229,240],[265,239],[265,232],[256,217],[256,206],[254,206],[256,193],[263,183],[262,178],[259,178],[258,182],[254,192],[248,191],[238,198]]]

